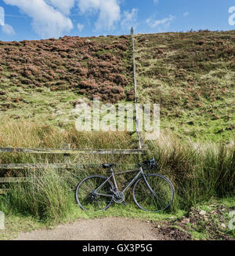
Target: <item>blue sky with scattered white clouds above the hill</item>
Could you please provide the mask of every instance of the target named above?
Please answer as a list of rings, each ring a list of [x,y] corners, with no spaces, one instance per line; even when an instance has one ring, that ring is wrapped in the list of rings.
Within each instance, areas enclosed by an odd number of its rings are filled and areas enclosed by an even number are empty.
[[[235,29],[235,0],[0,0],[0,41]]]

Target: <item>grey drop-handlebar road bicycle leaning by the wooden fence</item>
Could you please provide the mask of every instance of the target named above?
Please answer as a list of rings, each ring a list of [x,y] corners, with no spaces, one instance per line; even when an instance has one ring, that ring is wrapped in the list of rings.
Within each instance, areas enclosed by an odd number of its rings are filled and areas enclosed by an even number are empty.
[[[127,170],[114,174],[114,166],[117,166],[117,164],[103,163],[103,168],[109,169],[107,174],[110,174],[110,176],[92,175],[86,177],[78,184],[75,197],[82,210],[107,210],[112,203],[124,203],[127,205],[125,203],[125,192],[135,182],[132,189],[132,196],[140,209],[159,212],[167,209],[171,205],[175,196],[172,182],[161,174],[145,173],[145,170],[153,170],[154,167],[158,166],[154,158],[139,163],[139,168],[136,170]],[[120,191],[117,187],[115,175],[136,171],[139,171],[138,174],[128,182],[128,185],[126,185],[123,191]]]

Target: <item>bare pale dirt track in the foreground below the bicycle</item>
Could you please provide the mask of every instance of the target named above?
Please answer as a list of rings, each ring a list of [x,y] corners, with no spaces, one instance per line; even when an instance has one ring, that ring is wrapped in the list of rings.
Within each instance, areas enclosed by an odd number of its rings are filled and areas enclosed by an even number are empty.
[[[164,236],[150,222],[102,218],[20,233],[15,240],[164,240]]]

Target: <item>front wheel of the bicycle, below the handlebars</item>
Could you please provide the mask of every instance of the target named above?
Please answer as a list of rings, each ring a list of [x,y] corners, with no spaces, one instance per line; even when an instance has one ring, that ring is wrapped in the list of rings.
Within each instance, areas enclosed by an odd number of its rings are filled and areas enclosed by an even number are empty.
[[[135,203],[142,210],[159,212],[167,209],[174,198],[174,187],[168,178],[161,174],[146,174],[133,188]]]

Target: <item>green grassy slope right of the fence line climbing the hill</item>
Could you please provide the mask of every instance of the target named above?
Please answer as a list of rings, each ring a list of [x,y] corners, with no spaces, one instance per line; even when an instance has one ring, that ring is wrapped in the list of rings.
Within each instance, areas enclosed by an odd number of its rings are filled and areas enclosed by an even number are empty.
[[[233,140],[233,34],[136,35],[139,101],[161,104],[162,129],[193,141]]]

